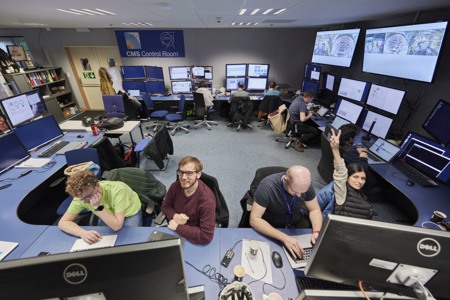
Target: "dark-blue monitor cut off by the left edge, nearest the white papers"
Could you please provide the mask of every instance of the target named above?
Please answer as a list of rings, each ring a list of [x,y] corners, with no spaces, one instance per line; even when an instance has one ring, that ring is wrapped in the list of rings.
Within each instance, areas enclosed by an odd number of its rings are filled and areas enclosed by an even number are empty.
[[[0,135],[0,174],[30,157],[15,132]]]

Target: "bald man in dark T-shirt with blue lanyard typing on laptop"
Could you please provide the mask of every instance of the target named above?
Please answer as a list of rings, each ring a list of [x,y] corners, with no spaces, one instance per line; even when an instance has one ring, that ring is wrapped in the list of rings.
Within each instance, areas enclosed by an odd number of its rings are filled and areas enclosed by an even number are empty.
[[[286,173],[269,175],[261,180],[255,192],[250,225],[260,233],[284,243],[293,257],[302,257],[303,248],[295,238],[275,228],[311,228],[311,242],[322,228],[322,212],[317,203],[311,174],[304,166],[292,166]],[[309,210],[311,225],[303,216],[303,203]]]

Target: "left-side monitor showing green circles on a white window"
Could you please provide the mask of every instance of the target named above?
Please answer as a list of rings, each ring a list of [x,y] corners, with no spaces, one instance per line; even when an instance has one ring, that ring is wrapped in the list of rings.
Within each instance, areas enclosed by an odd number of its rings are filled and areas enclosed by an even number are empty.
[[[32,90],[3,99],[1,105],[12,126],[30,121],[47,112],[47,107],[39,90]]]

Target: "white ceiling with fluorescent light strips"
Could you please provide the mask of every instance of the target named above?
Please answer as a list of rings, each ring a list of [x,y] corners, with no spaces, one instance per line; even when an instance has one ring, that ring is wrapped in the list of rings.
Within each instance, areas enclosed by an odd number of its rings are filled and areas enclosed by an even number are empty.
[[[157,8],[155,4],[162,1],[172,4],[172,8]],[[324,27],[449,5],[450,0],[0,0],[0,27],[257,28],[270,27],[270,20],[274,20],[273,27]],[[78,15],[57,9],[102,9],[115,15]],[[246,9],[243,15],[239,15],[241,9]],[[254,9],[260,10],[250,15]],[[262,15],[267,9],[273,10]],[[279,9],[286,10],[273,14]],[[216,17],[223,21],[217,23]],[[122,24],[130,22],[153,25]],[[247,25],[249,22],[251,25]],[[237,25],[239,23],[243,25]]]

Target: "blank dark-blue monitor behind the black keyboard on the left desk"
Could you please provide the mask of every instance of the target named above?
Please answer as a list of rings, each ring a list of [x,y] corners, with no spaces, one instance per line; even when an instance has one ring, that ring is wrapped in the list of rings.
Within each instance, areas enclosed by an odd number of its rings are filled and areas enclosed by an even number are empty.
[[[53,115],[17,126],[11,131],[17,134],[25,148],[30,152],[64,135]]]

